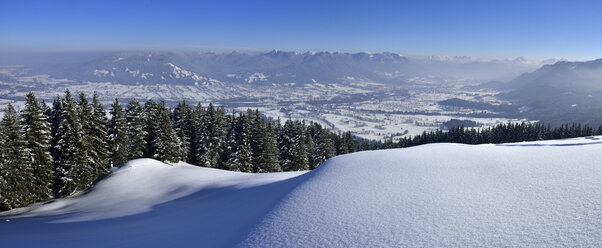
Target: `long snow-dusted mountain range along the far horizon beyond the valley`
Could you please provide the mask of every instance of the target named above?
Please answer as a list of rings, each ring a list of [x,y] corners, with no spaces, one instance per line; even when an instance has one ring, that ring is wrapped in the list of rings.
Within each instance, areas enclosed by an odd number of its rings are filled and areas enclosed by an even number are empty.
[[[304,85],[350,80],[407,83],[416,78],[482,82],[510,79],[539,64],[524,59],[412,58],[397,53],[115,52],[87,62],[37,65],[31,74],[77,82],[211,85]]]

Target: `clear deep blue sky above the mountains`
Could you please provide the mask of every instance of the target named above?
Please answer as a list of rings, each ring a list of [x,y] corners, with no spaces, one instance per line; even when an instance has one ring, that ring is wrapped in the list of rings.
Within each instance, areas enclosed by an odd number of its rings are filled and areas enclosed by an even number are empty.
[[[602,57],[599,1],[0,1],[0,51]]]

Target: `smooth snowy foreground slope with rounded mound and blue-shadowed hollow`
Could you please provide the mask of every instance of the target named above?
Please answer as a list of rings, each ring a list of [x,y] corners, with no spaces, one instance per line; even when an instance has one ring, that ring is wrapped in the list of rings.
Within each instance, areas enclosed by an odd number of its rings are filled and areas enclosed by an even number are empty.
[[[359,152],[274,174],[140,159],[0,221],[2,247],[601,247],[602,137]]]

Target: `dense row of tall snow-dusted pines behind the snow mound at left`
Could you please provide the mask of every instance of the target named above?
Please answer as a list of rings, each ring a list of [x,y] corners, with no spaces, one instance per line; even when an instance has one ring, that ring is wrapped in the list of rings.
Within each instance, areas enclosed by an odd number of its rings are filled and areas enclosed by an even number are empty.
[[[241,172],[311,170],[357,150],[350,132],[319,123],[267,120],[259,110],[226,113],[223,107],[185,101],[115,99],[110,119],[94,94],[77,101],[69,90],[51,106],[26,96],[0,123],[0,210],[83,192],[111,167],[136,158]]]

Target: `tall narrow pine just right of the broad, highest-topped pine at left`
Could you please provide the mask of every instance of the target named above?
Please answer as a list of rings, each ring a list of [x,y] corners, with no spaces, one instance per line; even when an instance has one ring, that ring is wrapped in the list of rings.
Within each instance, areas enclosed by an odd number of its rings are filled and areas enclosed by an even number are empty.
[[[90,119],[91,126],[88,138],[91,143],[90,159],[93,162],[94,180],[104,176],[110,167],[109,160],[109,144],[107,130],[107,113],[102,107],[102,103],[98,99],[98,94],[94,92],[92,96],[92,116]]]

